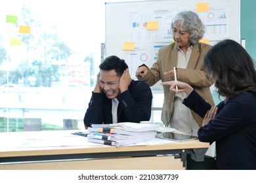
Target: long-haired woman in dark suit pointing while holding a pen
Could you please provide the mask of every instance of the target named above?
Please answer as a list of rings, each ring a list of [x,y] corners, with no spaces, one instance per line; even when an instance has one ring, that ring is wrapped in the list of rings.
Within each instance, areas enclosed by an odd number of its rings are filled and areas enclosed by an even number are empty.
[[[236,41],[213,46],[204,68],[216,80],[219,95],[226,97],[216,107],[206,103],[184,82],[163,82],[174,92],[185,92],[182,102],[200,114],[202,142],[216,141],[217,169],[256,169],[256,71],[253,59]],[[178,90],[175,87],[178,86]]]

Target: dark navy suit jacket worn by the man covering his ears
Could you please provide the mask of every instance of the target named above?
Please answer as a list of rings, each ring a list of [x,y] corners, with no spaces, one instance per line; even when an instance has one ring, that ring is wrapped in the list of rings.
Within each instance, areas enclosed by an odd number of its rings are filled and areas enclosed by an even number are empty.
[[[148,121],[151,116],[152,91],[145,82],[132,80],[129,89],[117,96],[118,122]],[[91,124],[112,124],[112,99],[105,93],[94,93],[83,122],[87,127]]]

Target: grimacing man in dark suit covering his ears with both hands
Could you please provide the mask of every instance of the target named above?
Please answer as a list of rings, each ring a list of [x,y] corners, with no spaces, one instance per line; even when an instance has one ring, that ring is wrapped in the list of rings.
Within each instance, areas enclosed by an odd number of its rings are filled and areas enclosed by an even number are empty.
[[[85,126],[150,120],[150,86],[131,78],[125,60],[110,56],[99,67],[97,83],[83,119]]]

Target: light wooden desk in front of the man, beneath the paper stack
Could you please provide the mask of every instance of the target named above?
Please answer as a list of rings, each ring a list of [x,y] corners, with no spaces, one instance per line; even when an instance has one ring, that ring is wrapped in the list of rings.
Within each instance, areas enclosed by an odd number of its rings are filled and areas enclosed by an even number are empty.
[[[104,146],[70,131],[0,133],[0,169],[186,169],[186,155],[203,161],[209,143],[198,140],[163,144]],[[70,143],[70,141],[72,143]]]

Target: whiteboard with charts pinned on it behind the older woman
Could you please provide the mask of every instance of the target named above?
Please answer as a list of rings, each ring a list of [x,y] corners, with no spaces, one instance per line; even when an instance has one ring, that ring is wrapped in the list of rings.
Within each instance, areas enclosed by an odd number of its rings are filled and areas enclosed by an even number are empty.
[[[106,57],[125,59],[132,78],[139,65],[148,67],[156,61],[161,46],[173,40],[169,29],[177,12],[193,10],[202,1],[166,0],[106,3]],[[240,42],[240,0],[209,0],[209,11],[197,12],[205,24],[203,39],[215,44],[222,39]],[[158,22],[158,29],[148,30],[146,22]],[[125,43],[134,43],[134,50],[123,50]]]

